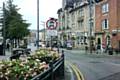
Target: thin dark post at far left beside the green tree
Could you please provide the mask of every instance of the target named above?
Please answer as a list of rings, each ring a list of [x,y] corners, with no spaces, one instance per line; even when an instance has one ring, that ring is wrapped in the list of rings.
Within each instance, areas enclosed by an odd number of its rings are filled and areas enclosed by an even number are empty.
[[[5,3],[3,2],[3,55],[5,55],[5,45],[6,45],[6,39],[5,39]]]

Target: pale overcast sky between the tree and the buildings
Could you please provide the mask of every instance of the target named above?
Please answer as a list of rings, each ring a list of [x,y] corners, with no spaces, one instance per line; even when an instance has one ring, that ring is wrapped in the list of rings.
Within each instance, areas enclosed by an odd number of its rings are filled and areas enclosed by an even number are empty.
[[[0,6],[2,5],[0,0]],[[13,0],[14,4],[18,5],[20,13],[23,15],[23,19],[28,20],[31,23],[30,29],[37,29],[37,0]],[[49,17],[57,18],[57,10],[62,7],[62,0],[39,0],[40,9],[40,29],[43,28],[41,21],[46,22]]]

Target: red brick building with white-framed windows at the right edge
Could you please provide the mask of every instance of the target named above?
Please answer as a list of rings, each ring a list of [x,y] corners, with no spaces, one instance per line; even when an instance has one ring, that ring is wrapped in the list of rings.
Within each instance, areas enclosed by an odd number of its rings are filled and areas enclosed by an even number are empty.
[[[95,7],[96,43],[120,49],[120,0],[102,0]]]

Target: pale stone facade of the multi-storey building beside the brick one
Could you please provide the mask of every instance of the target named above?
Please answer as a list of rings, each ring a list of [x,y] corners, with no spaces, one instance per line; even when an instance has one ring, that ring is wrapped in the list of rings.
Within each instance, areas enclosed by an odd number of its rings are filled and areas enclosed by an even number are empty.
[[[92,34],[89,35],[90,8],[87,0],[79,0],[76,2],[73,1],[72,5],[70,3],[72,2],[66,2],[66,5],[64,3],[62,10],[58,10],[58,22],[60,21],[59,28],[62,28],[59,31],[59,35],[66,35],[65,40],[63,36],[61,36],[60,40],[62,40],[62,42],[65,42],[72,39],[74,47],[84,47],[86,44],[89,45],[89,36],[94,36],[95,5],[93,4],[91,7]]]

